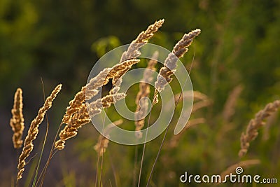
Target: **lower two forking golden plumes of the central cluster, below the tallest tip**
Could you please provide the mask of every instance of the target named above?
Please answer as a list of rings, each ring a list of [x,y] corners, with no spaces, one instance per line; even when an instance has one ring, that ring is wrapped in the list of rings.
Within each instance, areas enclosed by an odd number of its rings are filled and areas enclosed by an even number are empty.
[[[118,63],[112,68],[106,68],[100,71],[97,76],[92,78],[87,85],[78,92],[74,99],[69,102],[69,106],[66,109],[66,113],[62,119],[62,123],[66,124],[64,129],[59,133],[60,139],[55,142],[55,148],[62,150],[65,146],[65,141],[71,137],[76,137],[78,128],[90,122],[90,117],[97,115],[102,111],[102,108],[111,106],[114,102],[123,99],[125,94],[118,93],[120,90],[121,77],[131,69],[132,65],[137,64],[139,60],[125,60]],[[85,104],[86,100],[92,99],[99,92],[99,88],[109,83],[112,79],[113,89],[110,91],[110,95],[97,99],[94,102]],[[90,109],[90,111],[87,111]]]

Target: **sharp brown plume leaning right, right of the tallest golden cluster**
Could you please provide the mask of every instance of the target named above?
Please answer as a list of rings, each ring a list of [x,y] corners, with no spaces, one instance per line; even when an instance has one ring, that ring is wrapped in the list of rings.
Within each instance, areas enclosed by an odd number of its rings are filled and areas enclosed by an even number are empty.
[[[176,62],[179,57],[183,57],[183,55],[188,52],[188,47],[195,39],[195,36],[200,34],[200,29],[195,29],[188,34],[185,34],[183,38],[176,43],[174,46],[172,53],[170,53],[167,58],[165,59],[165,66],[160,69],[160,74],[158,74],[158,79],[155,82],[155,88],[157,92],[161,92],[165,89],[165,85],[172,81],[171,76],[176,71]]]

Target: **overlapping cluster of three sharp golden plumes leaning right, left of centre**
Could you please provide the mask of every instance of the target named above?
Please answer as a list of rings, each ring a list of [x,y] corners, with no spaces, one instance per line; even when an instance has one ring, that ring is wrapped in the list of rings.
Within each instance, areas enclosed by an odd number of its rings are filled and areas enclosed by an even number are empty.
[[[127,51],[125,51],[120,59],[120,62],[111,68],[103,69],[97,76],[92,78],[87,85],[78,92],[74,99],[69,102],[69,106],[66,109],[62,123],[66,124],[64,129],[59,133],[60,139],[55,142],[55,148],[62,150],[65,146],[66,139],[75,137],[78,133],[78,128],[82,127],[86,123],[90,122],[90,117],[97,115],[102,111],[102,108],[111,106],[119,99],[123,99],[125,94],[118,94],[120,84],[122,82],[121,77],[131,69],[132,65],[137,64],[139,60],[136,59],[141,53],[139,48],[144,46],[148,39],[153,37],[153,34],[158,31],[162,26],[164,20],[156,21],[153,25],[150,25],[146,31],[141,32],[137,39],[132,41]],[[88,104],[86,106],[86,100],[92,99],[99,92],[99,88],[102,85],[109,83],[112,79],[113,88],[109,92],[110,95],[102,99]],[[87,109],[90,111],[87,111]]]

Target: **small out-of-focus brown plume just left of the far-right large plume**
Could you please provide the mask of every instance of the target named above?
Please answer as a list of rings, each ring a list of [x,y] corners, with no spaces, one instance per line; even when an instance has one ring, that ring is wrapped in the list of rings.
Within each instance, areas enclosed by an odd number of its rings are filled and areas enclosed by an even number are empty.
[[[235,106],[237,99],[239,98],[239,95],[241,94],[243,90],[242,85],[237,85],[232,92],[230,92],[230,95],[228,96],[227,101],[225,102],[225,107],[223,109],[223,119],[225,121],[229,121],[230,118],[235,114]]]

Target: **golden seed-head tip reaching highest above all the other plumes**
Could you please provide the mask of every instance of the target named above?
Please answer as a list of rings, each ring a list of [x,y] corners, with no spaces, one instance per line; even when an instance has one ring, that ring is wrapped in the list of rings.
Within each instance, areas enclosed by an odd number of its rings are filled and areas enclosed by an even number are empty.
[[[133,59],[136,57],[139,57],[141,55],[139,48],[144,46],[146,43],[148,43],[148,39],[151,39],[153,37],[153,34],[162,27],[162,24],[165,22],[164,19],[156,21],[153,25],[150,25],[146,31],[141,32],[137,39],[132,41],[130,43],[130,46],[127,48],[127,50],[123,53],[122,57],[120,58],[120,62],[123,62],[128,59]]]

